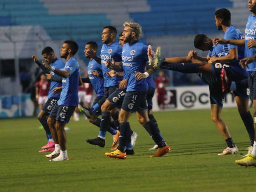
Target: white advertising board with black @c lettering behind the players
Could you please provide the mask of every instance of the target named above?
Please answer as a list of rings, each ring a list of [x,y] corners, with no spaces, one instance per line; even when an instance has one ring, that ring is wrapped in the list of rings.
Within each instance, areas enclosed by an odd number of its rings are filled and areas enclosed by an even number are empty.
[[[193,110],[210,109],[209,87],[184,86],[167,87],[165,96],[166,110]],[[236,107],[232,93],[228,93],[223,101],[223,107]],[[157,104],[157,95],[153,98],[153,111],[160,111]]]

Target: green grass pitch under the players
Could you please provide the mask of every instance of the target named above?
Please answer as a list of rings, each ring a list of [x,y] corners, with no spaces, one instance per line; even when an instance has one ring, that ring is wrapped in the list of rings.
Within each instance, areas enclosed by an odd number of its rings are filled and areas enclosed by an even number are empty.
[[[70,161],[49,162],[38,153],[46,144],[36,118],[0,120],[0,191],[249,191],[254,190],[255,167],[234,161],[246,154],[249,137],[236,109],[224,109],[223,119],[239,154],[217,156],[226,147],[211,122],[209,110],[154,113],[171,153],[149,158],[154,143],[144,128],[131,118],[138,133],[135,155],[111,159],[113,141],[105,148],[85,139],[95,138],[98,128],[84,121],[70,121],[67,131]]]

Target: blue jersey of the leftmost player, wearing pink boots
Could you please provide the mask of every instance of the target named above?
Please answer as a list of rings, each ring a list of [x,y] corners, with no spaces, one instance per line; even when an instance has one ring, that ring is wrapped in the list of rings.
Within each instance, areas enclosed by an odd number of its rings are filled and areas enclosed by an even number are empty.
[[[58,70],[64,70],[65,63],[59,59],[56,59],[52,64],[51,67],[54,66]],[[58,76],[54,72],[50,71],[53,76]],[[56,97],[60,98],[60,93],[54,94],[52,90],[56,87],[61,87],[62,83],[61,82],[56,82],[56,81],[51,81],[51,86],[48,92],[48,98]]]

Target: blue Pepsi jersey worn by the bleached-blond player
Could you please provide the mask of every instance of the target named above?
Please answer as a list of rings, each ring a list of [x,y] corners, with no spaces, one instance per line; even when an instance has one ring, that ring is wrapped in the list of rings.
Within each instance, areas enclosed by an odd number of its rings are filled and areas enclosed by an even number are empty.
[[[146,79],[137,80],[136,72],[145,72],[145,66],[148,61],[147,46],[140,41],[135,41],[129,45],[123,46],[122,60],[123,69],[127,78],[127,91],[147,91],[148,83]]]

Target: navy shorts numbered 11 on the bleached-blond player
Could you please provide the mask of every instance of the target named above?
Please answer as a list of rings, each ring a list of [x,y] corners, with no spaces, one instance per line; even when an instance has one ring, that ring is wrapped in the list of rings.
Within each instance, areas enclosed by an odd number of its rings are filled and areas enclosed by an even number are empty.
[[[122,104],[122,109],[134,113],[137,110],[148,110],[147,91],[127,91]]]

